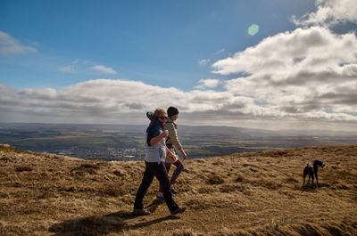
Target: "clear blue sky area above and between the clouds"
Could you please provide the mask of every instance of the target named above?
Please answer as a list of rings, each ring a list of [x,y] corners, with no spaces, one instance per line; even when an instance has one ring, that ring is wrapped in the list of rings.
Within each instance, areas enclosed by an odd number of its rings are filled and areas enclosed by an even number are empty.
[[[2,57],[0,79],[24,89],[120,77],[189,90],[212,77],[198,61],[217,61],[295,28],[289,17],[314,7],[300,2],[3,0],[0,29],[37,53]],[[260,27],[254,36],[252,24]],[[95,65],[117,74],[88,69]]]

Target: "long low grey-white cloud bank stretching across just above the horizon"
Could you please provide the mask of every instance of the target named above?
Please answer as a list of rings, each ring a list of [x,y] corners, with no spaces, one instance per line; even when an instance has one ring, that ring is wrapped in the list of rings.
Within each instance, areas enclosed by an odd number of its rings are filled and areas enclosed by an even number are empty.
[[[299,61],[298,63],[302,63]],[[323,85],[316,74],[299,83],[266,77],[228,80],[223,91],[192,90],[147,85],[122,79],[95,79],[61,90],[25,89],[0,85],[0,120],[14,122],[145,124],[146,110],[178,107],[187,125],[256,126],[288,128],[292,121],[355,124],[355,65],[341,66],[335,74],[344,81]],[[338,74],[339,73],[339,74]],[[303,73],[297,73],[305,76]],[[293,75],[292,75],[293,76]],[[355,80],[355,79],[354,79]],[[331,80],[333,81],[333,80]],[[310,85],[311,83],[311,85]],[[258,94],[258,95],[257,95]],[[286,122],[286,126],[282,124]],[[270,124],[270,126],[267,126]],[[341,127],[339,127],[341,128]]]

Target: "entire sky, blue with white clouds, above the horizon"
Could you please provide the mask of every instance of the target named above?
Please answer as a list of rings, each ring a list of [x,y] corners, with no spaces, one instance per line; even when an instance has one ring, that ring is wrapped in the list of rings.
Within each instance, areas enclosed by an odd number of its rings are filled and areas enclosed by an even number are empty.
[[[355,128],[353,5],[1,0],[0,121],[142,123],[130,114],[175,105],[187,125]]]

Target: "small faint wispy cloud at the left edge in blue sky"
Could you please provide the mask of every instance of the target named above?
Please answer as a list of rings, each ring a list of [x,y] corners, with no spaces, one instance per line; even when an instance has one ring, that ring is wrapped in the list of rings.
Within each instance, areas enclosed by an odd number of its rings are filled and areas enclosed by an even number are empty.
[[[36,53],[37,49],[21,43],[9,34],[0,31],[0,54],[12,55],[17,53]]]

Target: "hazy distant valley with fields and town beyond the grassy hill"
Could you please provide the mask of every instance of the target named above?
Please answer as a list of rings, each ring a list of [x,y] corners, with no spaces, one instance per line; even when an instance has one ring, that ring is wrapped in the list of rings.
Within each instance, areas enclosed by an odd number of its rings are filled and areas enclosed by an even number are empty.
[[[140,160],[145,155],[145,129],[145,125],[0,123],[0,143],[80,159]],[[230,126],[179,125],[179,138],[190,159],[357,143],[357,134],[348,132],[274,132]]]

